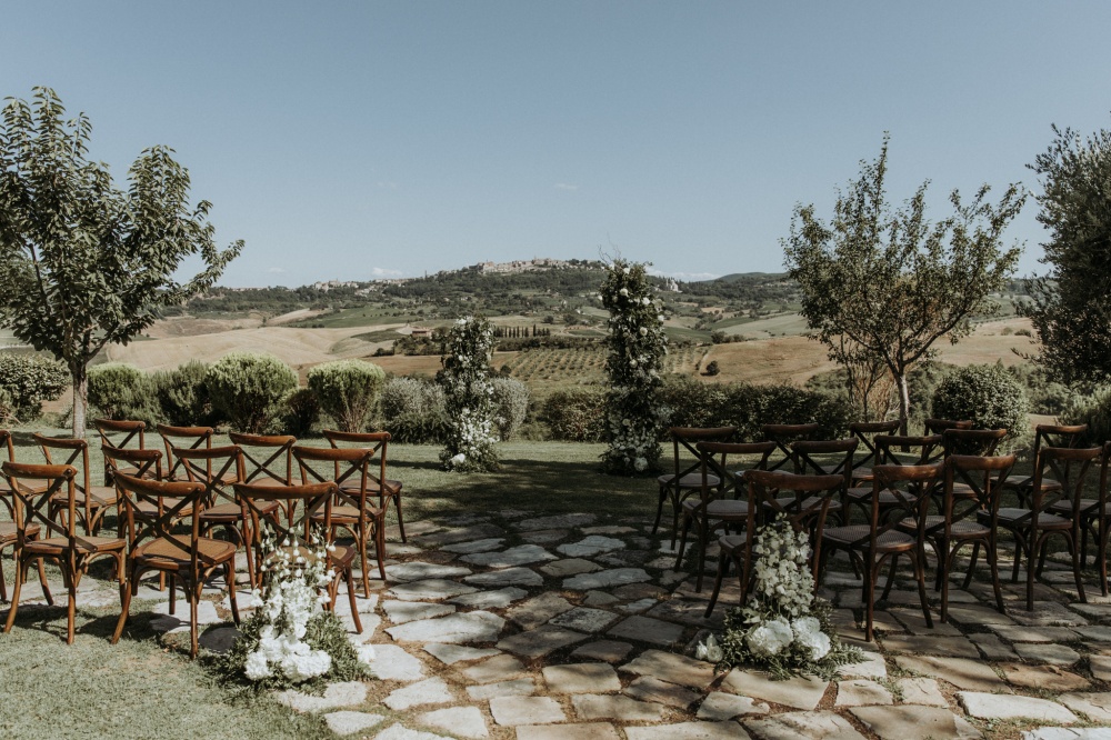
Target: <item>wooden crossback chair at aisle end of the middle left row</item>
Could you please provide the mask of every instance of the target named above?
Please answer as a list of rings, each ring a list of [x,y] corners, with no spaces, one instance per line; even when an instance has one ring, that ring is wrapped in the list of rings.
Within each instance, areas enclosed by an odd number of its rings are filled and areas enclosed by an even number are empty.
[[[381,488],[370,487],[371,466],[374,451],[369,449],[333,449],[318,447],[294,447],[293,458],[301,471],[302,483],[334,482],[336,501],[331,510],[331,528],[347,530],[354,538],[362,564],[363,594],[370,596],[370,559],[368,547],[374,541],[378,572],[386,580],[386,503]],[[320,472],[313,463],[331,468]],[[319,514],[316,521],[320,521]]]

